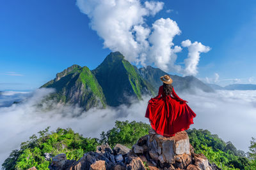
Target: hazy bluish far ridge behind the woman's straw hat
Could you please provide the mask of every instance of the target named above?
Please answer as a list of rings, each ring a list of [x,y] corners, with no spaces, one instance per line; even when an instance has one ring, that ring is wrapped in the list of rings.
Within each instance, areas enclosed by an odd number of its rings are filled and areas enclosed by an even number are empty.
[[[154,68],[151,66],[141,67],[140,69],[136,69],[136,71],[141,75],[141,77],[147,80],[157,90],[159,86],[163,85],[162,81],[160,81],[159,78],[164,74],[168,74],[159,68]],[[205,85],[205,83],[198,80],[198,78],[195,78],[195,76],[182,77],[182,76],[177,76],[172,74],[169,74],[169,75],[173,80],[173,83],[172,83],[173,87],[178,92],[181,92],[184,90],[191,91],[195,88],[201,89],[204,92],[214,92],[214,90],[211,87],[209,87],[208,85]]]

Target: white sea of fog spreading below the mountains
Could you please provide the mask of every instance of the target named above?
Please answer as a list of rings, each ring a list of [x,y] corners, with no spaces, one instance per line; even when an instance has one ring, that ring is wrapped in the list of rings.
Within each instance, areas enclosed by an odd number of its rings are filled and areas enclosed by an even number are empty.
[[[144,116],[150,96],[144,96],[143,101],[134,102],[129,107],[91,109],[82,114],[77,106],[63,106],[52,101],[38,109],[42,98],[52,91],[38,89],[0,94],[0,167],[20,143],[48,126],[52,131],[58,127],[71,127],[84,137],[99,138],[100,132],[111,129],[115,120],[148,123]],[[208,129],[225,142],[231,141],[237,149],[248,151],[250,139],[256,137],[256,90],[217,90],[215,93],[196,90],[193,94],[178,95],[189,102],[197,115],[191,128]],[[13,101],[23,102],[11,105]]]

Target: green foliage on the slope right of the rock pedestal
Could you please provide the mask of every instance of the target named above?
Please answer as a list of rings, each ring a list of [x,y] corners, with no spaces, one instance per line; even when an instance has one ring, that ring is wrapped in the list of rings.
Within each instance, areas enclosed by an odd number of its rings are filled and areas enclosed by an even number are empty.
[[[228,141],[225,143],[218,135],[203,129],[187,130],[189,141],[195,153],[204,153],[210,162],[214,162],[221,169],[244,169],[250,161],[244,157],[244,152]]]

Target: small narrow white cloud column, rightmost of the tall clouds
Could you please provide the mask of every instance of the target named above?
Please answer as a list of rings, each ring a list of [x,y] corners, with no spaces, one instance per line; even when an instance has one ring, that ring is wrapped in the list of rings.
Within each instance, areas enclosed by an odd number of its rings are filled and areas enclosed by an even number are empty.
[[[185,75],[196,75],[198,73],[198,62],[200,60],[200,53],[207,53],[211,48],[209,46],[204,46],[202,43],[195,41],[191,43],[189,39],[182,41],[181,45],[183,47],[188,47],[188,58],[184,60],[185,62]]]

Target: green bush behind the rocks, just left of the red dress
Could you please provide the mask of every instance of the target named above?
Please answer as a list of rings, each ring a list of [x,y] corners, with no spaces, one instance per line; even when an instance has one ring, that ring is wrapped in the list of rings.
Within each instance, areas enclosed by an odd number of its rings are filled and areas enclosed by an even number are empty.
[[[113,129],[100,134],[100,142],[108,143],[111,147],[119,143],[131,148],[141,136],[148,134],[149,129],[150,125],[142,122],[116,121]]]

